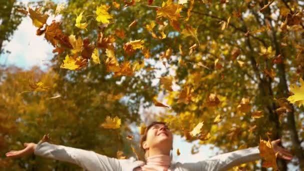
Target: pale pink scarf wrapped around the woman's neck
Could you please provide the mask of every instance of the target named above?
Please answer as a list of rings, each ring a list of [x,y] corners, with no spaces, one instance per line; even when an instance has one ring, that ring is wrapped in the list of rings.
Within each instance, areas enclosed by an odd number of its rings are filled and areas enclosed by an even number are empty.
[[[167,171],[170,164],[171,164],[171,158],[169,155],[163,155],[163,154],[153,155],[147,157],[145,165],[135,168],[134,171],[142,171],[142,170]]]

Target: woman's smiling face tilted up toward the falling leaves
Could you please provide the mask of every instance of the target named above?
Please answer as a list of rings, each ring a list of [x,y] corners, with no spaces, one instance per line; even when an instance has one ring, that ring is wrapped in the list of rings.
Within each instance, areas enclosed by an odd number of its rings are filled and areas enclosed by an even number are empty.
[[[146,148],[163,148],[170,150],[172,148],[173,137],[172,132],[164,124],[155,124],[147,131],[143,147]]]

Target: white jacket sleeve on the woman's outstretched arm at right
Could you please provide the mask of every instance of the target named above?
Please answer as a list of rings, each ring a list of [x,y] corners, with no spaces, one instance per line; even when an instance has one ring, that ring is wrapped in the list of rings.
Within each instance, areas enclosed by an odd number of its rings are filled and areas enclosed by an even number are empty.
[[[260,159],[258,146],[215,155],[195,163],[183,163],[188,170],[227,170],[242,163]]]

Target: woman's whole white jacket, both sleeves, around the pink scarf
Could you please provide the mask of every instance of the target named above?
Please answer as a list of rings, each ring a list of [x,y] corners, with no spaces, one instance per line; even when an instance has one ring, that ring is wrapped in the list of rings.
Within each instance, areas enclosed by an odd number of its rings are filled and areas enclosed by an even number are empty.
[[[131,159],[116,159],[98,154],[91,150],[84,150],[63,145],[55,145],[48,142],[37,143],[34,154],[77,164],[87,171],[133,171],[134,168],[144,165],[144,161]],[[170,170],[174,171],[210,171],[227,170],[233,166],[260,159],[258,146],[240,149],[215,155],[198,162],[171,164]]]

